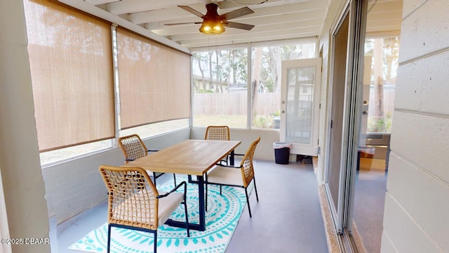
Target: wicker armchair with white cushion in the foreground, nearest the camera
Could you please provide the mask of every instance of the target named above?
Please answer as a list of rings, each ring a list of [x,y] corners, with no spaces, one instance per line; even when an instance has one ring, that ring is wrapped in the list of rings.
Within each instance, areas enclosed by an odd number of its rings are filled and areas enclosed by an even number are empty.
[[[183,204],[187,236],[190,236],[187,216],[187,183],[182,181],[173,190],[161,194],[156,190],[145,169],[139,167],[100,166],[100,174],[109,193],[107,207],[107,252],[111,241],[111,228],[127,228],[154,234],[154,252],[157,247],[157,228],[168,220],[175,209]],[[184,193],[176,190],[184,186]]]

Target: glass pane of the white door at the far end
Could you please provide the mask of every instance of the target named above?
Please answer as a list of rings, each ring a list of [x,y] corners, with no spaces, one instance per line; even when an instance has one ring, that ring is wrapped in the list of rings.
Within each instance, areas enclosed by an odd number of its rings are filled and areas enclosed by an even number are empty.
[[[288,69],[286,141],[311,145],[315,67]]]

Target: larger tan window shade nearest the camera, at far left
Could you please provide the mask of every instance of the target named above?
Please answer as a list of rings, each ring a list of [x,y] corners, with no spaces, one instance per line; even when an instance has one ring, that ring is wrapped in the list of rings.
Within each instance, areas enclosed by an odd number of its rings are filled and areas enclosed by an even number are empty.
[[[110,25],[51,1],[25,1],[41,151],[114,138]]]

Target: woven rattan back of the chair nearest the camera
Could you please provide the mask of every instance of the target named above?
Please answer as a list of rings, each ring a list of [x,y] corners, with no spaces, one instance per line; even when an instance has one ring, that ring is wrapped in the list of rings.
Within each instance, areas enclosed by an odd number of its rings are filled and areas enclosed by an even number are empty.
[[[156,230],[158,191],[147,171],[138,167],[100,166],[109,193],[107,221],[124,226]]]

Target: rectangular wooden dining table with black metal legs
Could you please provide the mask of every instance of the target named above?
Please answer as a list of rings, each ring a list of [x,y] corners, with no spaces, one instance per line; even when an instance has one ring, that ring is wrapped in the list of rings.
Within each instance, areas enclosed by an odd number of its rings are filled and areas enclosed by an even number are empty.
[[[141,167],[151,172],[185,174],[196,176],[199,197],[199,223],[189,223],[189,228],[198,231],[206,230],[206,208],[204,202],[204,174],[219,163],[228,154],[230,163],[234,164],[234,149],[241,141],[209,141],[209,140],[187,140],[163,148],[145,157],[128,162],[123,166]],[[185,228],[185,223],[168,220],[170,226]]]

